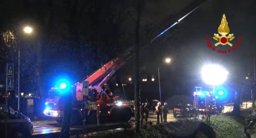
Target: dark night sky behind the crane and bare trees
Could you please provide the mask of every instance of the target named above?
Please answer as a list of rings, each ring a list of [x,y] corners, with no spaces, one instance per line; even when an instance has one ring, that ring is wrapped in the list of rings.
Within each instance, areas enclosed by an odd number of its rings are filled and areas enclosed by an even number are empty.
[[[171,17],[191,2],[143,1],[141,47],[172,24]],[[46,91],[57,76],[63,75],[80,81],[127,48],[134,47],[136,4],[136,1],[1,1],[0,31],[14,31],[21,47],[21,90]],[[200,76],[202,66],[214,63],[229,71],[226,85],[242,84],[248,73],[253,77],[255,9],[255,1],[206,1],[142,50],[141,75],[157,77],[157,67],[160,67],[163,93],[189,95],[194,86],[204,85]],[[238,49],[227,54],[212,51],[206,40],[206,36],[212,38],[213,33],[217,33],[223,14],[226,14],[230,33],[235,36],[231,42],[235,45],[242,35]],[[31,36],[23,35],[25,25],[33,27]],[[215,42],[211,39],[212,44]],[[222,47],[228,46],[218,46]],[[12,55],[9,59],[6,52]],[[172,58],[170,65],[164,64],[165,57]],[[2,83],[7,60],[15,62],[17,58],[2,40]],[[132,58],[110,83],[127,81],[134,74]],[[35,79],[36,76],[40,79]],[[34,86],[39,85],[38,81],[40,86]]]

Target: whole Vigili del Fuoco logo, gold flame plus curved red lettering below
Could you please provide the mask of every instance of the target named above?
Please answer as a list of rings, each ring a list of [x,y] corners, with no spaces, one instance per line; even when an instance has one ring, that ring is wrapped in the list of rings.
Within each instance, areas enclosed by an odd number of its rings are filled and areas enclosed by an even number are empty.
[[[210,42],[210,36],[207,36],[207,47],[212,51],[216,51],[217,53],[221,54],[227,54],[235,51],[241,43],[242,36],[239,35],[237,43],[233,45],[232,40],[235,38],[235,36],[233,33],[229,32],[230,30],[226,16],[223,14],[221,24],[218,26],[218,33],[214,33],[212,37],[214,40],[216,40],[216,43],[212,45]],[[228,46],[228,48],[226,46]],[[216,48],[218,49],[216,50]]]

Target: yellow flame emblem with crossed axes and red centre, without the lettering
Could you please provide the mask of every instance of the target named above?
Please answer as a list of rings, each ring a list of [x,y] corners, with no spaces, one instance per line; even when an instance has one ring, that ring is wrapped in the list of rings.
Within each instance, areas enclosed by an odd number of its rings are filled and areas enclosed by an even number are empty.
[[[229,30],[226,16],[225,16],[225,14],[223,14],[221,24],[220,24],[220,26],[218,26],[218,33],[220,33],[221,36],[214,33],[214,36],[212,37],[213,39],[218,41],[217,43],[215,43],[215,46],[217,46],[218,44],[222,44],[222,45],[229,44],[230,47],[232,47],[232,43],[230,43],[229,41],[233,40],[235,37],[234,37],[233,33],[229,34],[229,31],[230,30]],[[229,34],[229,35],[226,36],[227,34]]]

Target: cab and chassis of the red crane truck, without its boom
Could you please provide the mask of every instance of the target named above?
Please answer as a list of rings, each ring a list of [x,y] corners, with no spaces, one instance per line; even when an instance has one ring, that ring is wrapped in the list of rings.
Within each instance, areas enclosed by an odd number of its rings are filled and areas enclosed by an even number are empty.
[[[76,88],[79,89],[80,83]],[[118,100],[118,96],[108,95],[107,89],[101,89],[100,93],[93,88],[89,89],[87,96],[81,95],[81,91],[75,91],[72,102],[71,124],[96,123],[97,115],[100,122],[130,120],[133,115],[133,101]],[[109,93],[111,94],[111,93]],[[58,123],[62,123],[64,116],[64,98],[58,87],[49,90],[49,96],[45,102],[44,115],[55,118]]]

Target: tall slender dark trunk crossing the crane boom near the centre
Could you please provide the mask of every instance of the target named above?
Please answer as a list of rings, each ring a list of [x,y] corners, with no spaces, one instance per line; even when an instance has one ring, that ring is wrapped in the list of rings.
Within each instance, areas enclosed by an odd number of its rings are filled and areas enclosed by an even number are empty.
[[[135,81],[134,81],[134,102],[135,102],[135,131],[138,133],[140,129],[140,75],[139,75],[139,27],[140,27],[140,0],[137,0],[137,21],[136,21],[136,36],[135,36]]]

